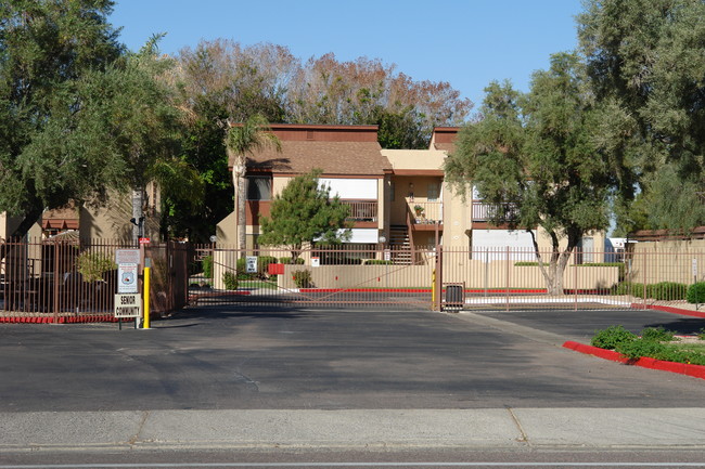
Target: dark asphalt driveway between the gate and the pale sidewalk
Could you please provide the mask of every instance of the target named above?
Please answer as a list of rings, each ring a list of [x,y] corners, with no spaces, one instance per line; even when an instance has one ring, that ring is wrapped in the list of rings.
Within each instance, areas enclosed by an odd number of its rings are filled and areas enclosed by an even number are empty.
[[[5,324],[0,412],[692,407],[703,380],[560,347],[606,325],[679,321],[705,326],[639,311],[228,307],[187,310],[151,330]]]

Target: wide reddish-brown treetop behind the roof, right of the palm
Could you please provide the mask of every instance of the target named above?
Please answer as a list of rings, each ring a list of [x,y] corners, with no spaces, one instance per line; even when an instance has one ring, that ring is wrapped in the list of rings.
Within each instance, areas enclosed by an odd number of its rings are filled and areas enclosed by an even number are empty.
[[[472,103],[447,82],[413,81],[395,65],[332,53],[289,80],[286,118],[300,123],[379,125],[383,147],[424,148],[434,127],[463,122]],[[389,146],[387,146],[389,145]]]

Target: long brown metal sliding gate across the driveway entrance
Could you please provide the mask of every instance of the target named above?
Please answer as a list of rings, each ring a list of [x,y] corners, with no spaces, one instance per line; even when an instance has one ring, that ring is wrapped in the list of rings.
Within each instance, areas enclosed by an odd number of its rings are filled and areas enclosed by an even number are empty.
[[[273,249],[198,246],[190,304],[431,309],[434,249],[317,247],[293,258]]]

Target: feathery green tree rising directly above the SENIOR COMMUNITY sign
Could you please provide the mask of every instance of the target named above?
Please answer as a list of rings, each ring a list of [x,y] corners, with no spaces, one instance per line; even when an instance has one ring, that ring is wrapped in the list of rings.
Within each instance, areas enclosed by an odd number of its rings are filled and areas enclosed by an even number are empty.
[[[79,128],[99,128],[106,141],[100,151],[118,169],[107,174],[112,182],[106,186],[132,191],[136,244],[143,234],[148,183],[157,183],[165,198],[182,201],[191,210],[203,201],[200,175],[177,157],[182,121],[174,89],[162,78],[172,63],[158,56],[157,40],[153,38],[139,53],[127,54],[104,71],[88,74],[81,88],[85,109],[77,118]]]

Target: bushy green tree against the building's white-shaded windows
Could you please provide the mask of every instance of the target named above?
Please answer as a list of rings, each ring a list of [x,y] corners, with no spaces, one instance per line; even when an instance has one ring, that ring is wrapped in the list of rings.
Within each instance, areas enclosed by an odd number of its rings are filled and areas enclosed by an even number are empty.
[[[305,243],[335,244],[349,238],[349,208],[337,196],[331,198],[330,187],[319,184],[321,172],[315,169],[294,178],[274,196],[271,217],[261,219],[260,244],[286,246],[295,261]]]

